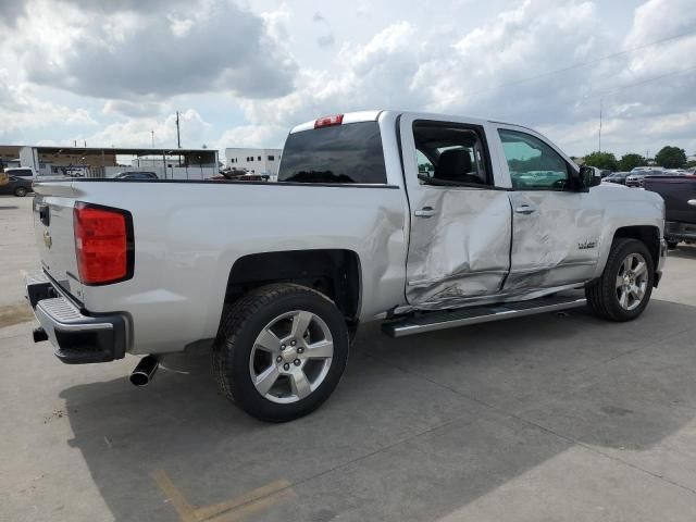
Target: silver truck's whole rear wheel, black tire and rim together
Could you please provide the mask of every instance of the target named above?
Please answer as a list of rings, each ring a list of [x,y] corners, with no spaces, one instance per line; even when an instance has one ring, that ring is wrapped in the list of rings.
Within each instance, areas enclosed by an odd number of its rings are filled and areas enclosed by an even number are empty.
[[[212,369],[222,394],[244,411],[262,421],[286,422],[328,398],[348,351],[346,321],[326,296],[274,284],[225,307]]]

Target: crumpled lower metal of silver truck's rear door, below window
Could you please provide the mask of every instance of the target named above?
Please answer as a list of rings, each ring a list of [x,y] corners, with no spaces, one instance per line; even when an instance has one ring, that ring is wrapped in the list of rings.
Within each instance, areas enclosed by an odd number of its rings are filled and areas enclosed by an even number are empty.
[[[509,268],[510,202],[506,191],[428,187],[412,217],[407,298],[457,301],[496,293]]]

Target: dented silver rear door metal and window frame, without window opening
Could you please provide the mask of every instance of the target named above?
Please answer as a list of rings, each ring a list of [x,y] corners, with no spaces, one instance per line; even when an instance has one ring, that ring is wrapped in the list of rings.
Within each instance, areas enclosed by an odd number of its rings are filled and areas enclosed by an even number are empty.
[[[407,301],[437,309],[500,291],[510,268],[511,217],[507,190],[500,186],[497,153],[489,154],[495,187],[433,186],[420,183],[413,137],[417,120],[474,125],[488,139],[495,127],[470,119],[403,116],[400,138],[410,207]]]

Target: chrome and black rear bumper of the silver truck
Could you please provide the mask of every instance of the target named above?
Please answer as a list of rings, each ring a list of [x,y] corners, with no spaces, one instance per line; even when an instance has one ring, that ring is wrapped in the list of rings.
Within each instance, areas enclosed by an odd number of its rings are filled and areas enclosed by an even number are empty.
[[[45,275],[27,277],[26,298],[53,345],[53,353],[64,363],[109,362],[124,357],[125,315],[87,314]]]

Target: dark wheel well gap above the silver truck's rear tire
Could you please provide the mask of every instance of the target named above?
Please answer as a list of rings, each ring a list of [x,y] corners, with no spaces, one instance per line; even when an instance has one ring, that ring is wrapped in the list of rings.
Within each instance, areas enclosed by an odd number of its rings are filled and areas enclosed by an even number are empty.
[[[353,250],[314,249],[243,256],[229,270],[225,303],[273,283],[295,283],[332,299],[348,323],[358,322],[362,297],[360,258]]]

